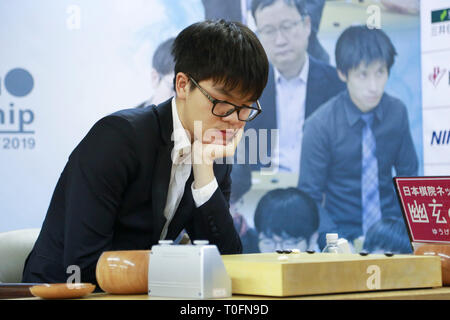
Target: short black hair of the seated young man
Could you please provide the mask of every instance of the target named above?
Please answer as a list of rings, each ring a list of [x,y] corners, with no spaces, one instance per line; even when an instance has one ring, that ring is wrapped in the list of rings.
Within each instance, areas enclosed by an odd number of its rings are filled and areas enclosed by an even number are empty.
[[[264,48],[239,22],[194,23],[176,37],[172,54],[175,76],[183,72],[196,81],[212,79],[250,100],[259,99],[267,83],[269,62]]]

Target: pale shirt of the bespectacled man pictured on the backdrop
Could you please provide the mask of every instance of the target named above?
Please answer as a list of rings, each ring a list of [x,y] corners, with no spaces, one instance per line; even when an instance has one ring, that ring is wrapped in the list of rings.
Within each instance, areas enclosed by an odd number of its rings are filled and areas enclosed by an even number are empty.
[[[272,161],[282,172],[300,173],[308,72],[308,56],[300,74],[295,78],[287,80],[274,68],[279,139]]]

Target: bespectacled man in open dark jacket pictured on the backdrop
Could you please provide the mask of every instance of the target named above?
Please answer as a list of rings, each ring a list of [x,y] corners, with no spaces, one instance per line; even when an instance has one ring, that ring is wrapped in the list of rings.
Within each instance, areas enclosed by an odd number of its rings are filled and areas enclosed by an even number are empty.
[[[344,83],[335,68],[307,54],[311,19],[305,0],[253,0],[252,15],[271,66],[260,99],[264,113],[247,126],[268,130],[270,155],[251,168],[298,174],[304,120],[343,90]],[[278,129],[278,139],[270,137],[273,129]]]

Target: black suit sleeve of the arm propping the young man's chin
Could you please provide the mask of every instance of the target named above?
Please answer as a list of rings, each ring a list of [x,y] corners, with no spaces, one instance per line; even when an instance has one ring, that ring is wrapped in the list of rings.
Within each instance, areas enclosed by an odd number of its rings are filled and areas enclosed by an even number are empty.
[[[192,240],[208,240],[221,254],[237,254],[242,253],[242,244],[229,210],[231,165],[226,168],[226,174],[211,198],[194,209],[186,230]]]

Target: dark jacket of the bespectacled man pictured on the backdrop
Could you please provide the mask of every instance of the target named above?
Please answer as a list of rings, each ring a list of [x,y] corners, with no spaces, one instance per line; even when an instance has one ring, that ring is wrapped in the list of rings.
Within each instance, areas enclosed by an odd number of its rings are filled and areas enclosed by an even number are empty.
[[[334,67],[310,56],[308,80],[306,84],[305,119],[307,119],[320,105],[327,102],[331,97],[335,96],[344,89],[345,83],[339,79]],[[268,130],[267,154],[270,156],[272,154],[270,130],[278,128],[276,112],[276,84],[272,65],[269,68],[269,78],[267,80],[266,88],[264,89],[259,102],[261,104],[262,113],[258,117],[256,117],[255,120],[247,123],[245,129],[248,130],[252,128],[257,131],[259,131],[260,129]],[[258,146],[260,145],[259,137],[260,136],[258,135]],[[292,139],[296,139],[296,137],[292,137]],[[244,143],[246,143],[246,141],[244,141]],[[245,149],[246,159],[240,159],[240,163],[244,161],[245,163],[248,163],[249,161],[248,153],[249,149],[251,150],[252,148],[249,148],[249,146],[245,146]],[[263,159],[263,162],[265,161],[268,161],[268,159]],[[258,161],[257,164],[252,164],[250,167],[252,170],[258,170],[261,167],[265,166],[267,166],[267,164]]]

